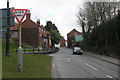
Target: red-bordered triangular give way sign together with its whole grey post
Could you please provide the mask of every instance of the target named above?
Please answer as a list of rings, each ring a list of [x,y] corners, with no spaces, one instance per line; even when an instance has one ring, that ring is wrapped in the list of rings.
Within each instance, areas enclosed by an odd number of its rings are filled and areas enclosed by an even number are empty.
[[[14,17],[19,23],[19,48],[18,48],[18,71],[22,72],[22,46],[21,46],[21,22],[24,19],[28,9],[11,9]]]

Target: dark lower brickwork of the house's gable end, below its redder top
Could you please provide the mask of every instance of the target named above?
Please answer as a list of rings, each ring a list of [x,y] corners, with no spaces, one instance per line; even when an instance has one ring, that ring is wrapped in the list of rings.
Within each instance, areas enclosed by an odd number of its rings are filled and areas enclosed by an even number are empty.
[[[39,46],[38,28],[22,28],[22,42],[32,47]]]

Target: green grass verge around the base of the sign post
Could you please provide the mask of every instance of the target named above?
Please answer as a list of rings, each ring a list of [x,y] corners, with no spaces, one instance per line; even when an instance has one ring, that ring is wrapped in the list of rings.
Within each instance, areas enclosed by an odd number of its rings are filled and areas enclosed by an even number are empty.
[[[18,55],[15,52],[18,46],[10,44],[10,57],[7,57],[4,56],[5,43],[2,43],[2,78],[51,78],[52,57],[39,54],[23,54],[22,72],[18,72]]]

